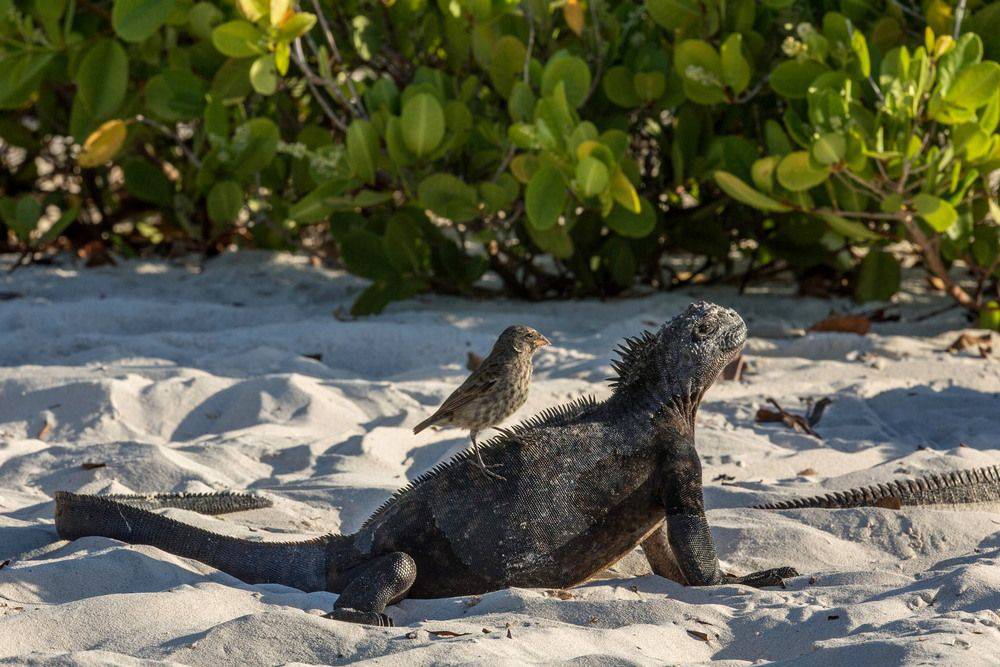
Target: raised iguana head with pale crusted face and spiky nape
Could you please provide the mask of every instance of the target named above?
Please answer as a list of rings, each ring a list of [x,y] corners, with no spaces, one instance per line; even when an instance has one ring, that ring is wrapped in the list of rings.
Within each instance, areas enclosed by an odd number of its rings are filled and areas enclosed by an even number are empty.
[[[679,399],[693,416],[701,397],[743,348],[746,336],[746,324],[736,311],[704,301],[693,303],[656,333],[627,339],[619,348],[621,358],[612,364],[618,372],[615,393],[651,391]]]

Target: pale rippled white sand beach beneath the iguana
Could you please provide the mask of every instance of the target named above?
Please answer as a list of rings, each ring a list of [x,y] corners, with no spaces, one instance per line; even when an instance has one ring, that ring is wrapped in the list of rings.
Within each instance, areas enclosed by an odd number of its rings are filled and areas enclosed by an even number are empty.
[[[1000,463],[1000,362],[942,351],[964,326],[957,311],[863,338],[780,337],[848,304],[728,289],[536,305],[428,297],[336,319],[362,285],[253,253],[201,273],[66,264],[5,278],[0,290],[23,297],[0,303],[0,561],[11,559],[0,569],[0,662],[1000,662],[1000,514],[738,509]],[[698,442],[725,567],[795,566],[804,576],[786,590],[686,589],[632,554],[568,595],[406,600],[389,610],[398,627],[375,629],[320,618],[333,594],[249,586],[150,547],[56,536],[51,498],[62,489],[249,488],[276,507],[225,520],[170,513],[246,535],[353,530],[407,478],[466,446],[458,431],[409,428],[463,377],[467,351],[486,352],[516,322],[552,339],[527,416],[606,395],[618,339],[696,297],[736,307],[752,335],[767,336],[749,342],[742,383],[709,392]],[[903,312],[942,303],[921,298]],[[825,440],[755,425],[768,396],[790,409],[833,397]],[[442,630],[468,634],[433,634]]]

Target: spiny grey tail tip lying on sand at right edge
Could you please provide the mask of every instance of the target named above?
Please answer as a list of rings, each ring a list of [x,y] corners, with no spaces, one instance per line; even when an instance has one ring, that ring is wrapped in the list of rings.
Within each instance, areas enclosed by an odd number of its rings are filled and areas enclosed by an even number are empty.
[[[888,507],[906,505],[960,505],[1000,502],[1000,465],[893,480],[821,496],[794,498],[754,505],[755,509]]]

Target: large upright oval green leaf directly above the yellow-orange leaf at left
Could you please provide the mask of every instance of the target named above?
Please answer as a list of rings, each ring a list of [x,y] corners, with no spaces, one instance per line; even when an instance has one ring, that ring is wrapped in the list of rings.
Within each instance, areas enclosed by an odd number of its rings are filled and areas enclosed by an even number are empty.
[[[116,40],[102,39],[89,49],[74,79],[76,95],[70,111],[70,133],[82,142],[91,130],[111,118],[125,100],[128,56]]]

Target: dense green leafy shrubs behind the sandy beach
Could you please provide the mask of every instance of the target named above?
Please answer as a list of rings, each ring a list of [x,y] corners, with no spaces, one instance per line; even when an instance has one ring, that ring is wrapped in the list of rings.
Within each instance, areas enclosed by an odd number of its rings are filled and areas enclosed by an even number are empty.
[[[917,262],[1000,328],[998,59],[975,0],[0,0],[0,242],[306,248],[358,313]]]

